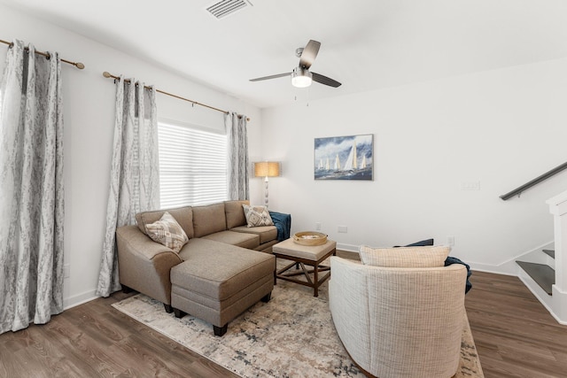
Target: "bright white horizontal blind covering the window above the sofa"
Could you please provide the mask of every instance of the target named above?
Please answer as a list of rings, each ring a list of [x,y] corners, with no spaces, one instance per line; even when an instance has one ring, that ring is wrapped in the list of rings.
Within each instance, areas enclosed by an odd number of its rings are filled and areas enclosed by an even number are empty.
[[[227,199],[227,137],[159,121],[161,208]]]

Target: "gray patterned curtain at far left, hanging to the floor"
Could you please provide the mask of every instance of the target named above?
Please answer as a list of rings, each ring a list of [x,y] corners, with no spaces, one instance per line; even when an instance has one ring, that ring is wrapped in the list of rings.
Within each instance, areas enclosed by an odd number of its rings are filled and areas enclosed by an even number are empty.
[[[0,333],[63,311],[61,63],[15,41],[0,82]]]

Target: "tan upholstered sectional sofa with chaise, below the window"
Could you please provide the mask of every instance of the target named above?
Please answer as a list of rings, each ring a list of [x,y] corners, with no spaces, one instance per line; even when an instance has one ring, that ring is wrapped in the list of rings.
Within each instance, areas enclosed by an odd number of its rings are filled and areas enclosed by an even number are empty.
[[[278,242],[275,226],[248,227],[243,204],[141,212],[136,226],[116,230],[120,283],[162,302],[167,312],[186,312],[213,324],[222,336],[230,320],[274,288]],[[179,251],[154,242],[149,225],[168,212],[189,241]]]

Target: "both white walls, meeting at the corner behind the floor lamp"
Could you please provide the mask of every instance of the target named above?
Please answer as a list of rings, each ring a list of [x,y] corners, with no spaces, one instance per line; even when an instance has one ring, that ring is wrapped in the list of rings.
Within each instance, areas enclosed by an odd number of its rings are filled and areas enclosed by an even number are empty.
[[[236,98],[0,5],[0,39],[33,42],[82,61],[63,65],[66,175],[66,306],[94,296],[108,195],[115,89],[103,71],[245,113],[251,160],[283,161],[270,180],[270,209],[290,212],[292,231],[322,230],[346,249],[454,235],[454,255],[498,266],[553,240],[544,201],[567,174],[502,202],[498,196],[567,161],[567,60],[471,74],[260,112]],[[7,46],[0,44],[0,52]],[[188,62],[190,64],[190,62]],[[0,58],[0,69],[4,58]],[[348,85],[345,83],[344,85]],[[301,96],[299,96],[301,97]],[[204,127],[221,113],[158,96],[159,116]],[[373,134],[375,180],[314,181],[315,137]],[[481,190],[462,191],[462,181]],[[263,183],[251,180],[252,202]],[[338,234],[337,226],[348,227]]]

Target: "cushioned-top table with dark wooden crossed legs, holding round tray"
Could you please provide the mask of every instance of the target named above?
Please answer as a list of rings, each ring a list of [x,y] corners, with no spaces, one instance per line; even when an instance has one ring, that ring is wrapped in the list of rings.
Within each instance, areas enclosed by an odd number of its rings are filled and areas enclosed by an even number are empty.
[[[327,243],[322,245],[308,246],[295,243],[293,239],[287,239],[275,244],[272,247],[272,251],[276,258],[293,261],[290,265],[274,272],[274,283],[276,283],[278,278],[299,283],[300,285],[313,288],[313,296],[319,297],[319,286],[330,277],[330,266],[322,266],[321,263],[325,258],[337,254],[337,242],[327,240]],[[300,266],[301,270],[299,272],[288,272],[292,266]],[[311,269],[307,269],[306,266],[311,266]],[[322,272],[327,273],[320,277],[319,274]],[[311,279],[310,274],[313,274],[313,279]],[[305,276],[307,281],[295,278],[298,276]]]

